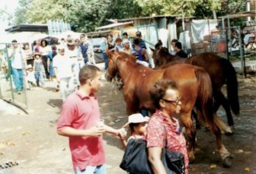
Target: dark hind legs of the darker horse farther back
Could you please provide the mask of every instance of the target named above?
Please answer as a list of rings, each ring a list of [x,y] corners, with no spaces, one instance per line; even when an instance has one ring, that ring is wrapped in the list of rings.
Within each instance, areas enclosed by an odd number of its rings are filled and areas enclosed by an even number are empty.
[[[230,111],[229,102],[220,90],[214,90],[214,100],[215,100],[214,111],[216,112],[218,110],[218,108],[220,107],[220,104],[222,104],[224,110],[226,111],[226,118],[228,119],[228,126],[233,126],[234,121],[233,121],[233,117],[232,117],[232,114]]]

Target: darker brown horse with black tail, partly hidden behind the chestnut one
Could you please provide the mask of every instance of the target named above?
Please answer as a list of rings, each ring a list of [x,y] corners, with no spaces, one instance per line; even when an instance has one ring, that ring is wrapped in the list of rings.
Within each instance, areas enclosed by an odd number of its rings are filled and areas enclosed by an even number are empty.
[[[163,66],[169,62],[176,62],[205,68],[212,80],[214,111],[216,112],[221,104],[226,111],[228,125],[234,125],[230,106],[232,112],[239,116],[238,82],[236,71],[228,60],[220,58],[212,53],[203,53],[184,59],[169,54],[167,48],[159,48],[156,50],[151,48],[151,50],[153,51],[153,60],[157,66]],[[228,100],[221,91],[221,88],[225,83],[227,86]]]

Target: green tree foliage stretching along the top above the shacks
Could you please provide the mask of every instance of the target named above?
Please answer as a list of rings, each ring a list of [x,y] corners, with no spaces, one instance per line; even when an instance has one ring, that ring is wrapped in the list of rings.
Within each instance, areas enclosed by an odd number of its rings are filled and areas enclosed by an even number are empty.
[[[225,15],[245,11],[245,0],[19,0],[13,24],[46,23],[48,19],[71,23],[75,31],[95,31],[105,19],[156,15],[212,18],[212,11]]]

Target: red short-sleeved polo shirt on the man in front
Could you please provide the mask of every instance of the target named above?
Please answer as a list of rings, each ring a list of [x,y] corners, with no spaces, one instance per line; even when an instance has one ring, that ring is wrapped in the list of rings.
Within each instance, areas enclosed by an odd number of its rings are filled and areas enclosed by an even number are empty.
[[[83,96],[79,91],[71,94],[62,104],[57,130],[65,126],[88,129],[96,125],[100,118],[99,104],[94,95]],[[87,166],[105,164],[105,151],[101,137],[69,137],[74,171]]]

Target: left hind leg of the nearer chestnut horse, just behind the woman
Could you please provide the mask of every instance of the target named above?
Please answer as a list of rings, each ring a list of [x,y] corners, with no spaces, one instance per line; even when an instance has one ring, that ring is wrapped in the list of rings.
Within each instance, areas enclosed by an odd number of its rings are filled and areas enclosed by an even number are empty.
[[[194,147],[196,145],[196,128],[193,126],[191,119],[191,112],[180,114],[181,122],[185,126],[186,136],[187,136],[187,156],[189,162],[193,162],[195,159],[194,156]]]

